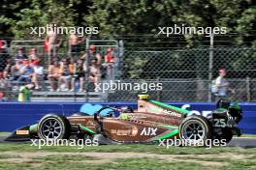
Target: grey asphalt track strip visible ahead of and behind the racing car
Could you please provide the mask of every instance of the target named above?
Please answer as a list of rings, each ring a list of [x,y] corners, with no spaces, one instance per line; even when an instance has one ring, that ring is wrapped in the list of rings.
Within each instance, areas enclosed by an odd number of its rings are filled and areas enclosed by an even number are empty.
[[[6,142],[7,136],[0,136],[0,143],[16,143]],[[19,142],[20,143],[20,142]],[[228,144],[229,147],[256,148],[256,137],[234,137]]]

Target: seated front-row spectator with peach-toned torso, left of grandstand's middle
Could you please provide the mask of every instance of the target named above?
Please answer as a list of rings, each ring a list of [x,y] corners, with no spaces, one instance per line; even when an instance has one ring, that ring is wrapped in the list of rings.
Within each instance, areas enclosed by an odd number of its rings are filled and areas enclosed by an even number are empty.
[[[50,83],[50,91],[53,92],[56,90],[56,82],[60,78],[60,66],[57,60],[54,60],[52,65],[48,67],[48,80]]]

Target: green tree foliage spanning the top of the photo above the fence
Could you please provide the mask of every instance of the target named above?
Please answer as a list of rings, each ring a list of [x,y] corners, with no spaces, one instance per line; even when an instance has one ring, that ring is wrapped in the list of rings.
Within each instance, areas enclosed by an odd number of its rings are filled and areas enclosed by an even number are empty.
[[[3,0],[3,36],[28,38],[30,26],[47,23],[98,26],[100,36],[157,34],[174,24],[227,27],[236,44],[255,43],[256,3],[252,0]],[[189,43],[197,35],[185,35]]]

